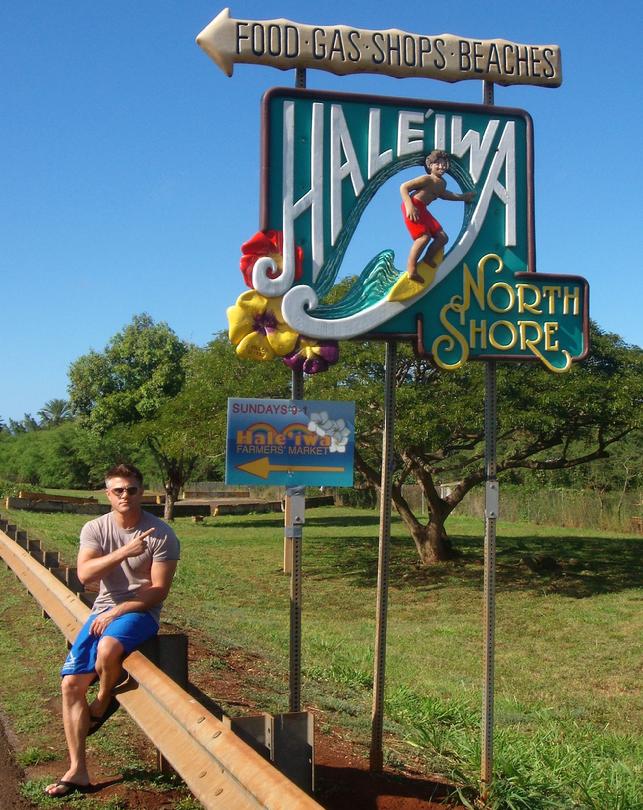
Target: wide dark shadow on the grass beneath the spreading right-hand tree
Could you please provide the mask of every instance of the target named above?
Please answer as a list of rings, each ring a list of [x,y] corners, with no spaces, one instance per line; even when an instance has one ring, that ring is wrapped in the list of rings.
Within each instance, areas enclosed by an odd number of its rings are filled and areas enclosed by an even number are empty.
[[[307,521],[307,526],[332,525],[332,518]],[[360,587],[374,587],[377,580],[378,519],[349,518],[341,526],[372,528],[369,536],[308,538],[307,574],[316,579],[345,576]],[[390,582],[393,587],[442,588],[461,584],[481,588],[483,538],[451,535],[459,556],[447,563],[422,567],[413,541],[400,536],[394,526],[391,540]],[[530,534],[497,538],[496,587],[498,591],[537,591],[582,599],[640,587],[643,574],[643,538],[542,537]]]

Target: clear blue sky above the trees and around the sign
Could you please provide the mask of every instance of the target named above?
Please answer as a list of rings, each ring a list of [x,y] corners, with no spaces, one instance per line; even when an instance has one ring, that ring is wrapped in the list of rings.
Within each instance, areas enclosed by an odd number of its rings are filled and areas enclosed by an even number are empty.
[[[223,8],[212,0],[3,3],[5,420],[66,397],[69,364],[103,349],[136,313],[199,345],[226,327],[225,309],[245,289],[239,247],[258,226],[259,102],[270,87],[292,86],[294,73],[238,65],[227,78],[194,42]],[[559,45],[562,87],[495,94],[534,119],[537,269],[585,276],[591,316],[641,345],[641,6],[544,8],[521,0],[230,5],[236,18]],[[475,81],[320,71],[307,80],[418,99],[477,103],[482,93]],[[408,250],[397,189],[390,208],[384,200],[369,216],[356,238],[390,229],[383,247]]]

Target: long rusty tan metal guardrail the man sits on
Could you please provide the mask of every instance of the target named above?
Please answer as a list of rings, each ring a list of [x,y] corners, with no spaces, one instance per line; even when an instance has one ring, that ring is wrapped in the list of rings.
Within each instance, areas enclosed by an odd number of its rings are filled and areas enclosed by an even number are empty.
[[[4,531],[0,557],[73,641],[89,608]],[[123,667],[138,687],[120,693],[119,702],[206,810],[321,810],[140,652]]]

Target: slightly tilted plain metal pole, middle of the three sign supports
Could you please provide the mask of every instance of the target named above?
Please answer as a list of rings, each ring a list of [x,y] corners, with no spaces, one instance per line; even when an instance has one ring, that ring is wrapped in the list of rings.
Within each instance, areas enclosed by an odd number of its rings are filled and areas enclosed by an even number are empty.
[[[395,423],[396,364],[397,343],[394,340],[387,340],[384,367],[384,431],[382,443],[382,478],[380,486],[380,539],[377,563],[373,711],[371,714],[371,752],[369,762],[371,771],[376,773],[381,772],[384,765],[382,737],[384,727],[384,673],[386,669],[386,623],[391,545],[391,490],[393,484],[393,427]]]

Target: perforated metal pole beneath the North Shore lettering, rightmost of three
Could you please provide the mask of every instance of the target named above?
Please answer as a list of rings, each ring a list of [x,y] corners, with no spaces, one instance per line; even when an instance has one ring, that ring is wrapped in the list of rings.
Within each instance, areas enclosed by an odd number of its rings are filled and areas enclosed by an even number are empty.
[[[483,82],[483,102],[494,103],[493,82]],[[497,434],[496,361],[485,364],[485,537],[483,585],[483,687],[482,746],[480,764],[481,793],[484,796],[493,778],[493,702],[496,624],[496,521],[498,519],[498,480],[496,460]]]

